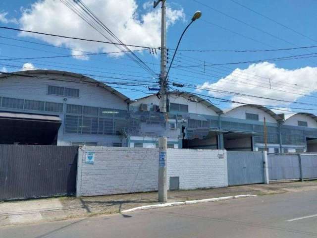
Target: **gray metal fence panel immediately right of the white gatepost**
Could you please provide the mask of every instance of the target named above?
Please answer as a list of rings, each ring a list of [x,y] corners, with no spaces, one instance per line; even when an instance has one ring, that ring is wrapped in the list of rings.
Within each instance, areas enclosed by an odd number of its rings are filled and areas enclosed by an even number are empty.
[[[268,154],[270,180],[300,179],[300,164],[297,154]]]

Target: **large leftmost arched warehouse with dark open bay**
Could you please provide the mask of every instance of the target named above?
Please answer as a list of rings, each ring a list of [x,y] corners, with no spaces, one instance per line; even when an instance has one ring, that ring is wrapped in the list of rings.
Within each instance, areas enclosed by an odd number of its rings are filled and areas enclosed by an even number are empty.
[[[129,99],[77,73],[0,75],[0,144],[126,146]]]

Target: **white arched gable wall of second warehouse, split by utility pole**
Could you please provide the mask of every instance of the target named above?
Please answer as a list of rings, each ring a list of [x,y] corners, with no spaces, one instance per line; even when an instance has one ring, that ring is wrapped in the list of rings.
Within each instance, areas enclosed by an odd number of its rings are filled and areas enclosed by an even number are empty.
[[[188,105],[189,113],[218,116],[212,109],[208,108],[204,104],[198,102],[191,102],[183,96],[176,97],[175,95],[171,94],[169,95],[169,102]],[[151,95],[147,98],[139,99],[137,102],[131,105],[135,107],[140,107],[141,103],[148,104],[150,107],[153,107],[153,105],[159,105],[159,99],[156,95]]]

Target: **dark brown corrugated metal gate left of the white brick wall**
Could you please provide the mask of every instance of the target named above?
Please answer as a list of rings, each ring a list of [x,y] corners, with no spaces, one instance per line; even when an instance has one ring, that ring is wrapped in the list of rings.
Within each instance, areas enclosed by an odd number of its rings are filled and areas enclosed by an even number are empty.
[[[0,200],[76,192],[77,146],[0,145]]]

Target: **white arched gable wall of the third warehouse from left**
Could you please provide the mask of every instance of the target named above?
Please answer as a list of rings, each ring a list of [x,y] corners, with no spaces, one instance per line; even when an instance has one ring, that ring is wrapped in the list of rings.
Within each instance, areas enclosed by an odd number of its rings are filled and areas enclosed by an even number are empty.
[[[251,106],[242,106],[234,108],[228,111],[223,117],[246,119],[246,113],[258,114],[259,121],[264,121],[265,117],[266,122],[277,123],[277,121],[274,118],[272,118],[269,114],[265,113],[261,109]]]

